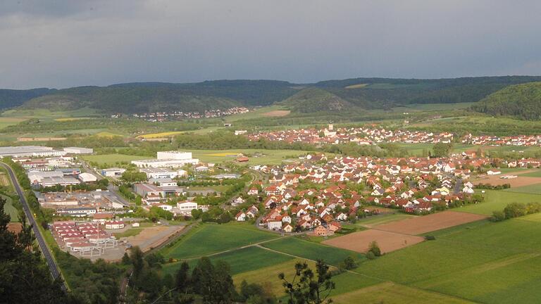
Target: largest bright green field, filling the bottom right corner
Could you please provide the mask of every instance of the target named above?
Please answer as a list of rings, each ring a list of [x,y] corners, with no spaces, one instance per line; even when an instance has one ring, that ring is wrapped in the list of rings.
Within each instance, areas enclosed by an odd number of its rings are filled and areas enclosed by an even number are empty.
[[[354,271],[482,303],[535,303],[541,289],[541,225],[473,222],[367,260]]]

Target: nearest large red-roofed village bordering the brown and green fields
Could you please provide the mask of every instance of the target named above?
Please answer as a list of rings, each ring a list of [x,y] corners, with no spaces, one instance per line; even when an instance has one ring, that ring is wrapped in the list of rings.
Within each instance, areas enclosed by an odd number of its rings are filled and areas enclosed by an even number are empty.
[[[266,214],[260,225],[282,232],[311,230],[330,236],[342,222],[378,215],[388,208],[423,215],[480,203],[484,191],[474,189],[473,177],[499,176],[490,158],[457,153],[449,158],[350,158],[309,155],[294,165],[253,166],[269,176],[268,185],[255,184]],[[508,167],[539,167],[540,160],[516,160]],[[516,178],[501,175],[499,179]],[[259,191],[261,189],[261,191]],[[243,221],[248,213],[240,212]]]

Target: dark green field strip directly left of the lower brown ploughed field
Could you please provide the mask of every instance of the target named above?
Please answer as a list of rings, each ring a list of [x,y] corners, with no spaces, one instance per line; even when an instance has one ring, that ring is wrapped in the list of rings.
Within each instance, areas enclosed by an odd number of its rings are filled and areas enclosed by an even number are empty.
[[[323,259],[333,266],[340,265],[340,262],[348,256],[352,256],[356,260],[365,259],[361,253],[305,241],[297,237],[278,239],[263,243],[261,246],[309,260]]]

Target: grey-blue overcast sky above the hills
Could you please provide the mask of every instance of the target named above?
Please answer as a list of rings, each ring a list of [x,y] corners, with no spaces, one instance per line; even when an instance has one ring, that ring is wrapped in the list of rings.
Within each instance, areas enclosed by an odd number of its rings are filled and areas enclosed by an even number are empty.
[[[541,75],[541,1],[2,0],[0,88]]]

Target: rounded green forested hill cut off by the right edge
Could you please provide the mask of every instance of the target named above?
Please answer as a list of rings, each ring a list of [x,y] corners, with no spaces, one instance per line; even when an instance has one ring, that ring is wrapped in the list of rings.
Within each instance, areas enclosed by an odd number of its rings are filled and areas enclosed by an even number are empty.
[[[490,115],[511,115],[526,120],[541,119],[541,82],[516,84],[501,89],[473,106]]]

